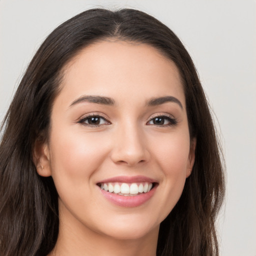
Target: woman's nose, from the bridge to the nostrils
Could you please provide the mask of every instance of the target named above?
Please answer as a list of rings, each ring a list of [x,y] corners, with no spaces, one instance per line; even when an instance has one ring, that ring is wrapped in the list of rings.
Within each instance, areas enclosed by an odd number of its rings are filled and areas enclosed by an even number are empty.
[[[149,160],[145,136],[136,125],[119,127],[112,141],[111,159],[114,163],[134,166]]]

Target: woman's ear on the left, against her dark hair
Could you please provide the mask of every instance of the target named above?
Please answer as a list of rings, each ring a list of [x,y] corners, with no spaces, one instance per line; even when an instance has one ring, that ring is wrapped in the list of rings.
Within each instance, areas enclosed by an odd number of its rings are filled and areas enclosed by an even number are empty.
[[[48,177],[51,175],[49,146],[42,139],[35,141],[33,161],[40,176]]]

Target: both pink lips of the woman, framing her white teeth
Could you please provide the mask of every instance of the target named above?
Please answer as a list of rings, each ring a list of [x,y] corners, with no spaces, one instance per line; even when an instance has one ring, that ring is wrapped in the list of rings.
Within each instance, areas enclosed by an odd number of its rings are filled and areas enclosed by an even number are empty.
[[[101,189],[99,186],[98,189],[102,193],[102,195],[111,203],[114,203],[115,205],[122,206],[122,207],[136,207],[139,205],[142,205],[146,201],[148,201],[154,194],[156,187],[157,187],[157,181],[145,176],[116,176],[112,178],[107,178],[104,180],[101,180],[97,182],[99,183],[107,183],[107,182],[125,182],[125,183],[136,183],[136,182],[149,182],[149,183],[156,183],[154,187],[147,193],[140,193],[138,195],[134,196],[124,196],[119,195],[115,193],[110,193],[105,191],[104,189]]]

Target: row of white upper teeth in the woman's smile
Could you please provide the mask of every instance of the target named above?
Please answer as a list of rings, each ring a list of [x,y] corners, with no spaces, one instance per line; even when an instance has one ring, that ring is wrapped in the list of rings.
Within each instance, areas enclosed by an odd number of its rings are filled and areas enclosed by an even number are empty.
[[[153,184],[148,182],[142,183],[101,183],[100,188],[110,193],[124,196],[136,195],[138,193],[149,192]]]

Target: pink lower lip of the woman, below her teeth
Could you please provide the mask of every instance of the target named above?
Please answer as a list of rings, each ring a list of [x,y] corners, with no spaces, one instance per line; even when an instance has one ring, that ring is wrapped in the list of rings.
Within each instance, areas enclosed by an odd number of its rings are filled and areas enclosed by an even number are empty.
[[[152,197],[152,195],[155,192],[156,186],[154,186],[147,193],[141,193],[133,196],[124,196],[124,195],[119,195],[115,193],[109,193],[104,189],[101,189],[100,187],[98,188],[100,189],[103,196],[110,202],[122,207],[136,207],[136,206],[142,205]]]

